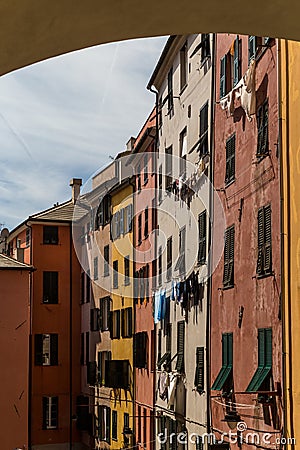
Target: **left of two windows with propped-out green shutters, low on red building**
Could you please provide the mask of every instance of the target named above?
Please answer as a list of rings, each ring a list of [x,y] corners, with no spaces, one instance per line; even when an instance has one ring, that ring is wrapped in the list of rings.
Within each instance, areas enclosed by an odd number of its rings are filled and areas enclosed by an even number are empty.
[[[233,334],[222,334],[222,367],[218,373],[211,389],[215,391],[226,390],[229,392],[229,384],[232,380],[232,355],[233,355]]]

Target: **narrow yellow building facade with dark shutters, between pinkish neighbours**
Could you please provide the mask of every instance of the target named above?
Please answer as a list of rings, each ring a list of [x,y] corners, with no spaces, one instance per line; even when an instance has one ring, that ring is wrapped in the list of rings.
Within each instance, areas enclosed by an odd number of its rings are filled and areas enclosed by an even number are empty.
[[[132,446],[133,430],[133,185],[111,192],[111,448]],[[121,362],[123,361],[123,363]]]

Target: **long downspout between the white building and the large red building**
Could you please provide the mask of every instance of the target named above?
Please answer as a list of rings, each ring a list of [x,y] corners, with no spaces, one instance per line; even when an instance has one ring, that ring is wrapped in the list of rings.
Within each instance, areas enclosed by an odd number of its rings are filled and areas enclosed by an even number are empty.
[[[210,116],[210,164],[209,164],[209,232],[208,232],[208,283],[207,283],[207,306],[206,306],[206,422],[207,433],[211,430],[211,405],[210,405],[210,349],[211,349],[211,295],[212,295],[212,265],[213,265],[213,239],[212,227],[214,222],[214,120],[215,120],[215,82],[216,82],[216,35],[212,36],[212,80],[211,80],[211,116]]]

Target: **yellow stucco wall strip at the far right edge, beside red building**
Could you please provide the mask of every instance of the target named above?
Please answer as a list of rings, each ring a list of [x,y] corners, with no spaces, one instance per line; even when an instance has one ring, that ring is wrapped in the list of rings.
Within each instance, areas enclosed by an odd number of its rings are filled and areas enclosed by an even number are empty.
[[[300,448],[300,44],[281,41],[280,55],[284,400],[286,437]]]

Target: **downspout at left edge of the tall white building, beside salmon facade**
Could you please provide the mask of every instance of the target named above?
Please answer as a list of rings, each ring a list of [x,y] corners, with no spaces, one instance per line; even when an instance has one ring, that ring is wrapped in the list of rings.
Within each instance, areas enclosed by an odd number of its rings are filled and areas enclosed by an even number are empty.
[[[154,189],[154,193],[155,193],[155,225],[157,224],[157,153],[158,153],[158,140],[159,140],[159,130],[158,130],[158,91],[156,91],[155,89],[153,89],[152,86],[150,86],[148,84],[147,86],[148,91],[152,92],[153,94],[155,94],[155,143],[154,143],[154,150],[155,150],[155,167],[154,167],[154,173],[155,173],[155,189]],[[153,224],[152,224],[153,226]],[[157,256],[157,235],[156,232],[154,234],[154,254],[155,257]],[[152,269],[151,269],[152,270]],[[156,278],[156,273],[155,273],[155,278]],[[152,273],[152,280],[153,280],[153,273]],[[152,345],[154,345],[154,349],[156,349],[156,324],[153,325],[153,331],[154,331],[154,342],[152,342]],[[156,354],[156,352],[155,352]],[[153,385],[152,385],[152,401],[153,401],[153,419],[150,419],[153,421],[152,423],[152,432],[153,432],[153,436],[150,436],[150,440],[154,441],[154,437],[156,436],[156,420],[155,420],[155,386],[156,386],[156,362],[154,363],[154,367],[153,367]],[[151,429],[151,424],[150,424],[150,429]],[[155,448],[156,446],[156,439],[155,442],[153,442],[153,447]]]

